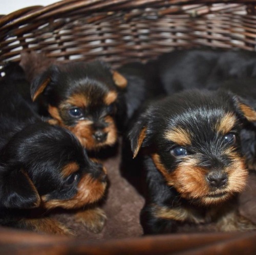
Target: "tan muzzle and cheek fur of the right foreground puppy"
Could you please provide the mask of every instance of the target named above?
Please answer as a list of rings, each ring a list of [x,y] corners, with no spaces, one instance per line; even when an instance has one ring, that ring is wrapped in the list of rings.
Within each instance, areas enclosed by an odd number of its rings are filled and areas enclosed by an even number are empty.
[[[152,154],[152,160],[163,175],[169,186],[175,187],[180,196],[185,199],[197,199],[203,204],[220,203],[230,198],[234,193],[241,192],[246,186],[248,171],[244,158],[236,153],[228,151],[232,158],[230,167],[224,169],[228,174],[228,184],[221,190],[211,191],[206,181],[207,169],[198,167],[197,160],[193,157],[186,157],[175,170],[168,172],[161,163],[158,154]]]

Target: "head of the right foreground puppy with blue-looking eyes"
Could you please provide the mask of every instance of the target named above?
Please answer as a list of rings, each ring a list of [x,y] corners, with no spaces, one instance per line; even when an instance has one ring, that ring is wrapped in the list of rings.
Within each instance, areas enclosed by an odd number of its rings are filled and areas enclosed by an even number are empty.
[[[134,156],[147,148],[168,186],[192,202],[222,202],[247,179],[239,133],[256,112],[228,92],[184,91],[156,102],[130,132]]]

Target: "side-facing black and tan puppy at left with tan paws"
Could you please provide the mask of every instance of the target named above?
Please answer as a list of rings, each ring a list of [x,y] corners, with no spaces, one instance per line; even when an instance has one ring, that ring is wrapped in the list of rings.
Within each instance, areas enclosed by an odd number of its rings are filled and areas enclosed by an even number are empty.
[[[104,168],[88,158],[70,131],[37,116],[18,92],[20,86],[28,85],[18,65],[10,64],[4,72],[0,80],[0,224],[72,234],[48,217],[50,210],[61,207],[72,211],[72,217],[88,229],[100,231],[105,214],[93,205],[106,188]]]

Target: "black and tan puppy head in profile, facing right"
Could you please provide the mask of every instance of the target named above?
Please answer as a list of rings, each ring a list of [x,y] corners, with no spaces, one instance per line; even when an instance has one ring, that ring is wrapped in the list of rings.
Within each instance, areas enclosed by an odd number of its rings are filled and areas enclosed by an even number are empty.
[[[68,130],[46,123],[16,133],[1,151],[0,203],[78,208],[103,196],[106,173]]]

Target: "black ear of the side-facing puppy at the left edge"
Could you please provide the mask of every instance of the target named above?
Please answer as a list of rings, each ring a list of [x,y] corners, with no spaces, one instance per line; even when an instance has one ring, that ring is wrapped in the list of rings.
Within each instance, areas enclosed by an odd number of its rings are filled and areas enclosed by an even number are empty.
[[[7,208],[29,209],[40,204],[39,194],[23,170],[0,171],[0,203]]]

